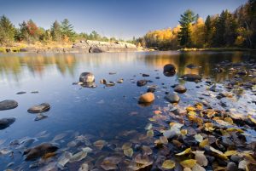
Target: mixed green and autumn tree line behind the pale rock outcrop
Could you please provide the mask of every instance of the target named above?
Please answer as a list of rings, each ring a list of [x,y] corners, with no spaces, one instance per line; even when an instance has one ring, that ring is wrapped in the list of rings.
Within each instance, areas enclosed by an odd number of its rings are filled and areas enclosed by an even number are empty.
[[[0,45],[10,46],[16,42],[22,43],[73,43],[77,40],[97,40],[104,42],[123,41],[115,37],[102,37],[96,31],[90,34],[81,32],[77,33],[73,29],[73,25],[69,20],[65,19],[61,22],[55,20],[50,29],[44,29],[37,26],[33,20],[23,21],[16,28],[5,15],[0,17]]]

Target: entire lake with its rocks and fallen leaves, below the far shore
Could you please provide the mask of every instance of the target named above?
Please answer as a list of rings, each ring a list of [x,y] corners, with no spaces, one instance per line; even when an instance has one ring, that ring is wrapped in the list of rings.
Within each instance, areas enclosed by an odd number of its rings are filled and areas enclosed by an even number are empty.
[[[256,54],[0,54],[0,170],[256,170]]]

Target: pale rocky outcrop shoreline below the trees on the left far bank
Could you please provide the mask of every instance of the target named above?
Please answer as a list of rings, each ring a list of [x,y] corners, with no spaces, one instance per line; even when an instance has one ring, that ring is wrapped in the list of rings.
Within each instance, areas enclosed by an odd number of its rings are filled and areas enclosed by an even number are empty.
[[[66,47],[36,47],[27,46],[26,48],[4,48],[5,52],[29,52],[29,53],[104,53],[104,52],[137,52],[144,48],[125,42],[100,42],[93,40],[80,41]]]

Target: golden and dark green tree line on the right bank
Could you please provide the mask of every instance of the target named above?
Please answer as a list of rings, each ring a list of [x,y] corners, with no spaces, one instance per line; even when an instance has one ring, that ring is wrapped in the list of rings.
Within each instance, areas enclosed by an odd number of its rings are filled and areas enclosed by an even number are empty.
[[[137,39],[148,48],[256,48],[256,1],[249,0],[233,13],[208,15],[203,20],[190,9],[181,14],[179,25],[148,33]]]

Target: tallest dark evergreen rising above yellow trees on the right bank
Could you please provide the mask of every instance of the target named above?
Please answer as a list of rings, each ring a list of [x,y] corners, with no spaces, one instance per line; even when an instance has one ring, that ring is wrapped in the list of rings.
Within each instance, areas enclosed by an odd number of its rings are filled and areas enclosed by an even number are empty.
[[[178,21],[181,26],[181,31],[178,34],[180,46],[191,47],[191,26],[197,16],[198,15],[195,15],[190,9],[181,14],[181,19]]]

